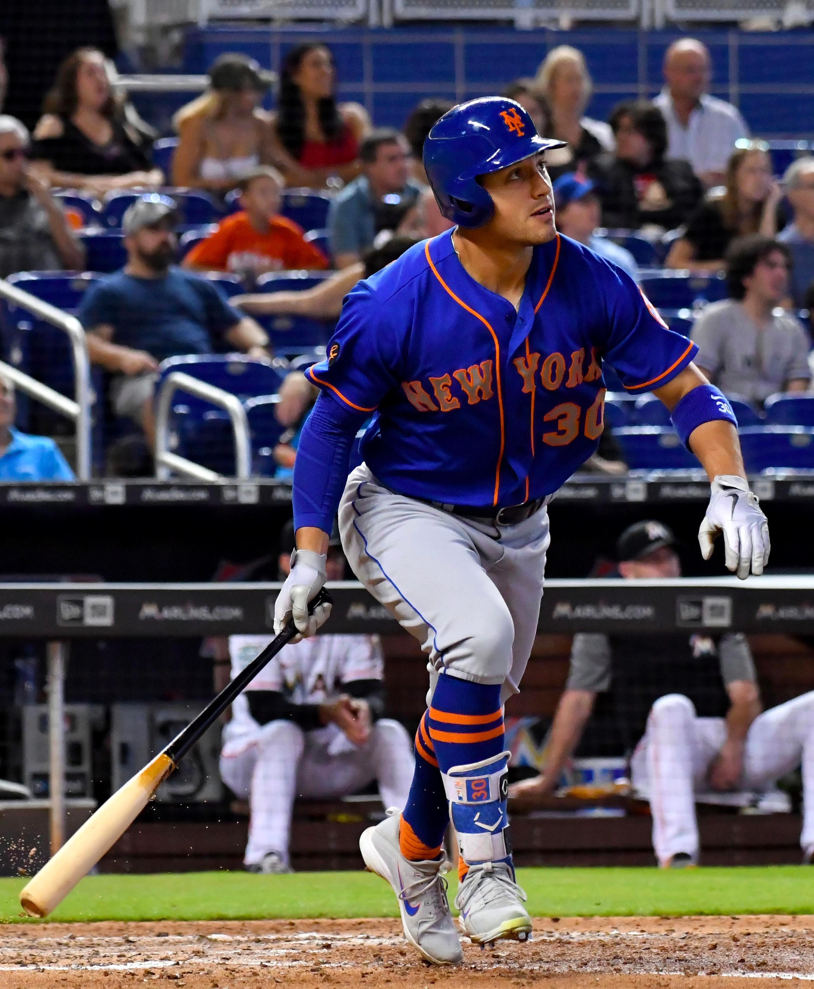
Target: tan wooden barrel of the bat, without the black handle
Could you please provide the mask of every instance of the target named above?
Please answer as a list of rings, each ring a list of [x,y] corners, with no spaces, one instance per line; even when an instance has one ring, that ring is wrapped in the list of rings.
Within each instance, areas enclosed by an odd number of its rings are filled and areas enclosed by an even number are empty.
[[[174,768],[172,760],[160,753],[106,800],[20,893],[26,913],[47,917],[128,830]]]

